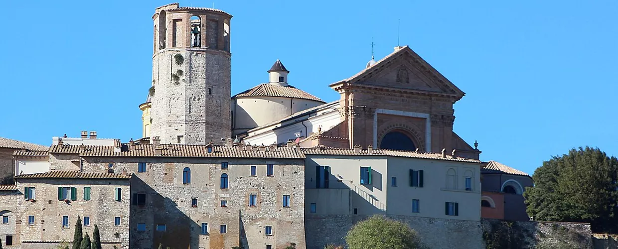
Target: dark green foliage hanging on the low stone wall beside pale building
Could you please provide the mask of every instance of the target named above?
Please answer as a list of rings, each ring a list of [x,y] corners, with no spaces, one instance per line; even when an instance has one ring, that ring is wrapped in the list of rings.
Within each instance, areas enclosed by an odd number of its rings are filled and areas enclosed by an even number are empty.
[[[525,247],[525,236],[517,223],[493,222],[491,230],[483,233],[486,249],[520,249]]]

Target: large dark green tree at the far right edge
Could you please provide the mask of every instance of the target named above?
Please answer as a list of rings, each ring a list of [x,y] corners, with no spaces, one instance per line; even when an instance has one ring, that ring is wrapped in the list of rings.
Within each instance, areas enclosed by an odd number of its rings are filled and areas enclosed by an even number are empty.
[[[590,222],[593,232],[616,232],[618,160],[598,148],[554,156],[536,169],[523,193],[538,221]]]

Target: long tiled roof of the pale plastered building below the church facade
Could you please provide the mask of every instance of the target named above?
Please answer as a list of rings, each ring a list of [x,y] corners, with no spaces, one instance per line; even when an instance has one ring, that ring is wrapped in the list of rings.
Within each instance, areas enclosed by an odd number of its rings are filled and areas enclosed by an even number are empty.
[[[375,149],[372,153],[368,153],[367,150],[354,151],[353,149],[332,148],[326,146],[316,146],[313,148],[301,148],[305,154],[323,154],[331,156],[397,156],[402,158],[421,158],[421,159],[436,159],[446,161],[459,161],[459,162],[473,162],[481,163],[481,161],[468,158],[453,157],[449,154],[442,157],[441,153],[430,153],[421,151],[397,151],[397,150],[383,150]]]

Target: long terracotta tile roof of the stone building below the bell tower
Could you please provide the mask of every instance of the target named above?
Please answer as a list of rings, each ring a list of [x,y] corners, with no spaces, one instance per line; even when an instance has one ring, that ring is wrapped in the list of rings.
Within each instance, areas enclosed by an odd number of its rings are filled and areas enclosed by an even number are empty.
[[[264,146],[222,146],[222,145],[158,145],[161,154],[157,155],[156,145],[135,144],[133,150],[123,144],[121,151],[114,151],[113,146],[85,145],[80,152],[80,145],[53,145],[49,153],[70,153],[80,156],[114,156],[114,157],[150,157],[163,156],[174,158],[296,158],[305,156],[295,148]],[[213,150],[208,153],[208,146]],[[58,149],[56,150],[56,147]],[[54,152],[59,151],[59,152]]]

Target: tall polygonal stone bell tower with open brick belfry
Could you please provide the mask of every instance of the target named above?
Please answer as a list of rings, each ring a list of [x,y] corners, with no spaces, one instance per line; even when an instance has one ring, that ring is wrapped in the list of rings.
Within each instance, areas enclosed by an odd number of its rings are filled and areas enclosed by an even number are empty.
[[[177,3],[155,10],[151,137],[193,145],[231,137],[231,18]]]

